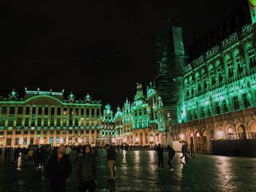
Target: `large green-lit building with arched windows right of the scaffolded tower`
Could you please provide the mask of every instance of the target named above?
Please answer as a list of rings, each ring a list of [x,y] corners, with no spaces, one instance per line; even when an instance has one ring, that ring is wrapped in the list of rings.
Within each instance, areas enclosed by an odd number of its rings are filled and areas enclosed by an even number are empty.
[[[192,44],[176,77],[177,128],[197,151],[210,152],[211,140],[255,139],[255,21],[245,2]]]

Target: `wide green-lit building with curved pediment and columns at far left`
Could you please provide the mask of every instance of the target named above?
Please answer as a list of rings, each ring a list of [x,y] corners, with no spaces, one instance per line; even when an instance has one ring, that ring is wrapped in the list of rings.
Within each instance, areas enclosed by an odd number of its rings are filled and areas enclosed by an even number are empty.
[[[75,100],[64,91],[12,91],[0,99],[0,145],[100,144],[100,101]]]

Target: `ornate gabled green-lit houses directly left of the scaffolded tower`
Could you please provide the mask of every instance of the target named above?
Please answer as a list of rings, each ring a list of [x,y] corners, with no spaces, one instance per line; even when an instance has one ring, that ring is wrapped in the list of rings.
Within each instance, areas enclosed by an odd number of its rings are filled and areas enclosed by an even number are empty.
[[[169,124],[170,120],[165,117],[162,98],[155,85],[150,82],[145,96],[142,85],[138,84],[132,104],[127,99],[123,109],[117,109],[116,144],[153,145],[160,142],[166,145],[170,143],[170,137],[166,134],[166,126]]]

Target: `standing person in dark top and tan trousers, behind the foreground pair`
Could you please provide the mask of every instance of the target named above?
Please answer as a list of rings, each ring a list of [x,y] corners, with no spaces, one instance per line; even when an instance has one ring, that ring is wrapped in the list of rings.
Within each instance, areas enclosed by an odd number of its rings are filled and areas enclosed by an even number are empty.
[[[108,161],[108,170],[110,172],[110,176],[108,181],[113,181],[115,180],[116,177],[116,173],[115,173],[115,162],[117,160],[117,153],[116,150],[114,150],[114,148],[110,145],[106,145],[106,150],[107,150],[107,161]]]

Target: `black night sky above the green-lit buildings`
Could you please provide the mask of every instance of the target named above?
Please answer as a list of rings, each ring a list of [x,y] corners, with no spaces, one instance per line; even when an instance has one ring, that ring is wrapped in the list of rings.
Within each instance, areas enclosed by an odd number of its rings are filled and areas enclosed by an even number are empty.
[[[242,1],[1,0],[0,90],[64,88],[122,105],[157,74],[154,34],[167,18],[191,39]]]

